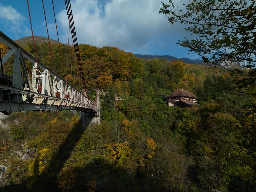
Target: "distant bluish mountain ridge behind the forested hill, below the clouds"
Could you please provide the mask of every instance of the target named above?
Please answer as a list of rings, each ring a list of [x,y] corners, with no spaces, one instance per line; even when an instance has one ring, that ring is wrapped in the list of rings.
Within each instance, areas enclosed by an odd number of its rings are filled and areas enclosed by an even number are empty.
[[[185,63],[188,63],[188,64],[204,65],[204,61],[201,60],[201,59],[191,60],[191,59],[188,59],[188,58],[185,58],[185,57],[177,58],[177,57],[173,57],[173,56],[170,56],[170,55],[141,55],[141,54],[134,54],[134,55],[138,58],[144,58],[144,59],[153,59],[153,58],[160,59],[160,58],[163,58],[163,59],[166,59],[166,60],[169,60],[169,61],[182,60],[182,61],[184,61]]]

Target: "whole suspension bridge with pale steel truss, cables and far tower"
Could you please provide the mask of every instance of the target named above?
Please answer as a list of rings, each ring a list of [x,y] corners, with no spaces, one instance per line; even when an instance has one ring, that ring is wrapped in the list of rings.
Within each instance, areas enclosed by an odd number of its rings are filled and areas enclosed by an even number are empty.
[[[69,57],[70,33],[72,37],[72,53],[74,50],[76,57],[73,65],[74,69],[72,68],[72,59],[67,59],[66,77],[71,75],[74,77],[71,80],[67,80],[67,78],[64,79],[55,71],[54,66],[56,65],[53,63],[52,48],[43,0],[42,6],[48,35],[51,68],[37,58],[28,0],[27,5],[33,38],[34,55],[23,49],[0,31],[0,42],[7,47],[5,54],[1,53],[0,48],[0,112],[9,115],[16,111],[45,112],[48,110],[78,110],[82,111],[84,116],[90,116],[90,118],[98,117],[96,121],[99,123],[99,89],[96,93],[96,99],[93,102],[89,97],[86,87],[70,0],[65,0],[69,22],[67,57]],[[54,13],[60,57],[62,59],[61,66],[63,66],[63,53],[60,48],[53,0],[52,9]],[[7,74],[5,73],[5,63],[8,59],[10,60],[10,58],[12,60],[12,73]],[[28,63],[31,64],[30,66],[32,66],[32,69],[31,67],[29,68]],[[68,68],[70,69],[68,70]]]

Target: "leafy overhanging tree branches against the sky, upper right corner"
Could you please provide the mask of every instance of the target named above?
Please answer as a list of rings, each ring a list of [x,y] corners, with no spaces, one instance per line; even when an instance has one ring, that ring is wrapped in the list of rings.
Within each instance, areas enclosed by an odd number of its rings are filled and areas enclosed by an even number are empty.
[[[188,0],[162,2],[159,13],[171,24],[186,24],[185,30],[197,34],[178,44],[199,54],[209,54],[213,63],[256,61],[255,0]],[[227,62],[226,62],[227,64]]]

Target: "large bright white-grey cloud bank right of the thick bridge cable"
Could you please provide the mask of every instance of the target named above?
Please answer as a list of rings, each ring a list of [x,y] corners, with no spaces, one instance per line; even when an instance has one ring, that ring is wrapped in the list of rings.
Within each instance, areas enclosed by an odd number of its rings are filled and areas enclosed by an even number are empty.
[[[100,0],[71,2],[78,43],[116,46],[125,51],[143,50],[152,49],[150,45],[160,42],[161,36],[177,33],[171,30],[174,27],[166,17],[156,12],[161,8],[161,0],[112,0],[105,4],[104,16],[99,3]],[[64,34],[61,40],[67,42],[66,10],[57,18]]]

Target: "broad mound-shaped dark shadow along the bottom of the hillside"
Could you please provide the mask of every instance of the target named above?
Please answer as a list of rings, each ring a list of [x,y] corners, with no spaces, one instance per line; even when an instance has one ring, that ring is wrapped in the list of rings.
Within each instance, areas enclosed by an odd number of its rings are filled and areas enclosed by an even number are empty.
[[[31,190],[26,188],[27,181],[23,184],[9,185],[2,188],[5,192],[57,192],[57,191],[157,191],[153,182],[138,173],[128,173],[127,169],[108,163],[97,158],[93,162],[82,167],[74,167],[61,172],[57,181],[56,173],[42,173],[36,178]],[[31,179],[31,178],[30,178]],[[57,184],[58,183],[58,184]]]

